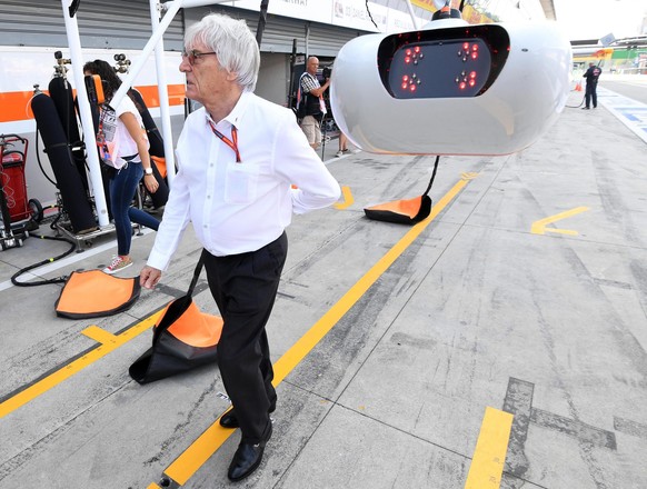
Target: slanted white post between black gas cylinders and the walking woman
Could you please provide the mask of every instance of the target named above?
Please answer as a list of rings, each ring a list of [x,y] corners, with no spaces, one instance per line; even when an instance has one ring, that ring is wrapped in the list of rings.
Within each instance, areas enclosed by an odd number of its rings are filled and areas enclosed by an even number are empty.
[[[83,139],[86,140],[86,152],[88,156],[88,167],[90,169],[90,183],[94,196],[94,207],[99,226],[104,227],[110,223],[108,218],[108,204],[106,193],[103,192],[103,179],[101,178],[101,163],[97,151],[97,134],[94,133],[94,122],[92,121],[92,111],[86,81],[83,76],[83,54],[81,52],[81,40],[79,37],[79,24],[77,17],[70,17],[70,0],[61,0],[63,8],[63,19],[66,20],[66,31],[68,34],[68,44],[70,48],[70,58],[72,60],[72,72],[74,76],[74,86],[77,89],[77,100],[79,102],[79,113],[81,124],[83,126]]]

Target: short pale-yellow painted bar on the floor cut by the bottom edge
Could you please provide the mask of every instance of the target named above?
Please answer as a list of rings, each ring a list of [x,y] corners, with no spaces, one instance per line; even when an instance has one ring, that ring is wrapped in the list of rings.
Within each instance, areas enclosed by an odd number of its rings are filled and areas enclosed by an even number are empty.
[[[509,412],[487,407],[465,489],[498,489],[512,429]]]

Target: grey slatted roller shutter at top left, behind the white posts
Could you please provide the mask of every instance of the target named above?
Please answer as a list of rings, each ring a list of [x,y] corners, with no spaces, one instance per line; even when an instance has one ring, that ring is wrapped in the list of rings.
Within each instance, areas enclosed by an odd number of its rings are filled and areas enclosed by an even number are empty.
[[[77,22],[82,48],[142,49],[150,38],[148,0],[81,0]],[[165,33],[167,50],[182,49],[182,13]],[[60,0],[2,0],[1,46],[68,46]]]

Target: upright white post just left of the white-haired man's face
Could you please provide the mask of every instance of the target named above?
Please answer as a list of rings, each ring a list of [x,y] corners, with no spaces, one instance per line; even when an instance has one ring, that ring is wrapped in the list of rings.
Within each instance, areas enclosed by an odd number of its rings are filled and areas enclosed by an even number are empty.
[[[150,24],[153,32],[159,29],[160,3],[158,0],[150,0]],[[165,158],[167,163],[167,178],[169,187],[173,184],[176,176],[176,153],[173,150],[173,133],[171,129],[171,116],[169,109],[169,90],[167,83],[167,72],[165,66],[165,43],[163,37],[155,47],[155,64],[157,69],[157,87],[159,93],[159,108],[161,117],[162,140],[165,144]],[[179,69],[179,67],[178,67]]]

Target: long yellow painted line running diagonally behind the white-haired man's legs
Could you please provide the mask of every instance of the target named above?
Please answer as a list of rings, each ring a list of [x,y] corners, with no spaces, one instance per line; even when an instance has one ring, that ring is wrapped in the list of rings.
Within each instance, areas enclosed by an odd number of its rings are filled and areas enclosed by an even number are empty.
[[[474,177],[472,177],[474,178]],[[366,293],[370,286],[402,255],[416,238],[429,226],[429,223],[447,207],[447,204],[460,192],[470,179],[459,180],[439,201],[431,208],[429,217],[411,228],[374,267],[360,278],[355,286],[319,319],[306,335],[303,335],[283,356],[275,363],[273,386],[278,386],[286,376],[315,348],[315,346],[332,329],[332,327],[346,315],[350,308]],[[218,418],[200,437],[193,441],[187,450],[165,470],[165,475],[180,486],[211,457],[225,441],[235,432],[225,429]]]

